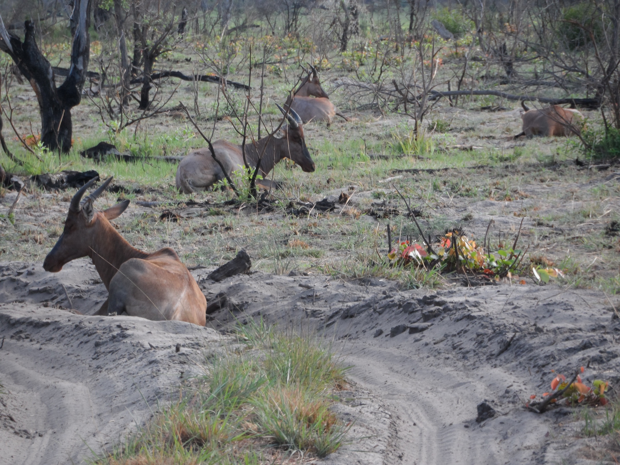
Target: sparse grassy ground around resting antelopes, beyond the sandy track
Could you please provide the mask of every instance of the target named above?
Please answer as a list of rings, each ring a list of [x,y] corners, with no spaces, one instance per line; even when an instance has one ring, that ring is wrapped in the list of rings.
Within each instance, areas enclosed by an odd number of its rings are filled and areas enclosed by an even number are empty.
[[[177,66],[172,61],[169,64]],[[229,77],[243,81],[247,79],[244,73],[239,69],[238,75]],[[330,76],[337,73],[322,71],[326,88]],[[254,76],[252,79],[254,82]],[[283,95],[285,80],[277,74],[269,74],[265,79],[265,95],[270,97],[265,107],[267,118],[278,115],[274,102],[278,95]],[[172,82],[166,86],[172,89]],[[198,123],[208,133],[213,125],[209,118],[215,90],[211,84],[200,84],[198,104],[203,110]],[[195,97],[190,86],[181,86],[176,92],[170,107],[177,100],[190,104]],[[33,99],[24,101],[17,97],[32,94],[32,89],[27,84],[14,84],[10,93],[15,114],[23,117],[15,124],[20,134],[27,135],[30,122],[38,120],[37,105]],[[341,109],[350,106],[341,91],[330,94]],[[300,270],[343,278],[372,276],[396,279],[404,287],[443,285],[445,281],[436,273],[404,272],[385,265],[388,222],[396,226],[394,241],[397,237],[418,237],[417,229],[404,215],[406,209],[392,188],[394,184],[412,201],[412,206],[423,210],[420,223],[433,238],[446,228],[461,225],[481,241],[489,220],[494,219],[496,226],[490,234],[495,247],[500,233],[502,237],[508,234],[507,240],[511,242],[518,221],[525,218],[521,248],[529,244],[528,254],[545,255],[556,264],[572,262],[562,282],[618,293],[620,259],[616,249],[620,249],[620,243],[618,237],[604,232],[606,224],[620,219],[618,180],[603,181],[604,172],[575,169],[575,157],[583,159],[575,138],[507,140],[507,135],[518,133],[520,117],[515,112],[480,112],[481,105],[494,103],[512,105],[491,97],[460,99],[458,107],[440,102],[423,122],[425,137],[418,140],[412,138],[412,121],[393,114],[353,112],[355,120],[348,123],[338,120],[329,127],[310,123],[304,130],[316,172],[303,173],[291,162],[278,164],[269,178],[283,182],[283,189],[273,192],[276,209],[268,214],[214,205],[170,223],[159,217],[163,210],[174,209],[174,205],[136,206],[135,201],[194,200],[218,204],[232,198],[231,192],[180,195],[174,188],[176,165],[148,158],[183,156],[204,146],[202,139],[188,128],[185,117],[174,109],[141,122],[137,128],[132,126],[115,133],[100,122],[92,102],[84,99],[73,111],[76,141],[71,153],[60,160],[56,155],[40,153],[43,161],[38,161],[20,148],[10,126],[5,125],[9,148],[27,163],[25,167],[16,166],[4,154],[0,154],[0,163],[9,172],[28,176],[62,169],[94,169],[102,177],[114,175],[115,183],[129,191],[142,192],[107,193],[97,206],[104,208],[118,198],[130,198],[130,208],[115,221],[126,239],[149,251],[173,247],[188,265],[220,265],[239,249],[246,249],[254,268],[266,272],[285,274]],[[595,112],[587,116],[593,124],[600,118]],[[257,124],[253,116],[249,122],[254,127]],[[34,132],[37,133],[36,127]],[[241,143],[226,120],[215,123],[214,138]],[[101,140],[112,141],[121,152],[146,158],[130,164],[114,160],[97,164],[79,156],[79,151]],[[482,148],[467,151],[454,149],[455,145]],[[479,166],[484,168],[472,169]],[[413,174],[397,171],[410,168],[449,170]],[[583,185],[588,187],[580,187]],[[328,195],[338,197],[340,192],[352,195],[342,213],[313,212],[298,218],[286,211],[291,200],[316,201]],[[14,211],[14,224],[0,216],[0,259],[41,261],[62,230],[66,203],[61,202],[66,202],[71,193],[33,188],[29,197],[20,199]],[[383,217],[368,213],[376,203],[383,202],[398,213]],[[9,206],[3,205],[7,210]]]

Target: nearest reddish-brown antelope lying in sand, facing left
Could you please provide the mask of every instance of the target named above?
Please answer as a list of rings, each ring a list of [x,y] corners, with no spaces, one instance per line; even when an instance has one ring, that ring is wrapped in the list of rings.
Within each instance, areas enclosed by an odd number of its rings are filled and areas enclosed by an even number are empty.
[[[108,299],[97,315],[126,312],[149,320],[179,320],[204,326],[206,299],[196,280],[166,247],[153,254],[134,249],[110,224],[129,205],[122,201],[104,211],[93,203],[108,187],[108,178],[80,203],[91,179],[71,199],[63,234],[45,257],[43,268],[60,272],[71,260],[91,257],[108,290]]]

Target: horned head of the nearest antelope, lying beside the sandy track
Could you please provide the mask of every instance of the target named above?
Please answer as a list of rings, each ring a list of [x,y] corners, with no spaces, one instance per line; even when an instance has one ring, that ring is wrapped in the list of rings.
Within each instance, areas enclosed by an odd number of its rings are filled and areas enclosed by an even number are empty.
[[[49,272],[59,272],[66,263],[71,260],[86,257],[91,252],[91,247],[96,241],[100,241],[101,233],[105,234],[106,226],[109,228],[108,220],[117,218],[129,205],[129,200],[117,203],[107,210],[95,210],[93,203],[97,200],[105,189],[112,182],[113,177],[105,180],[97,190],[87,196],[84,201],[82,197],[86,190],[95,182],[95,178],[84,184],[76,195],[71,199],[67,219],[64,220],[63,234],[58,237],[58,242],[43,261],[43,269]]]

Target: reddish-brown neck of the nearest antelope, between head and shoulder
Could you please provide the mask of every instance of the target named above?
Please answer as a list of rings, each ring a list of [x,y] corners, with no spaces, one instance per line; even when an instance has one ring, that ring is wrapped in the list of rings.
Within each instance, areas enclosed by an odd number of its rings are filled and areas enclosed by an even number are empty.
[[[106,218],[102,218],[102,215],[99,214],[97,216],[97,221],[100,224],[97,225],[99,228],[97,228],[94,241],[89,248],[88,256],[91,257],[99,277],[105,288],[108,289],[110,281],[117,273],[120,265],[129,259],[144,259],[149,254],[132,247]]]

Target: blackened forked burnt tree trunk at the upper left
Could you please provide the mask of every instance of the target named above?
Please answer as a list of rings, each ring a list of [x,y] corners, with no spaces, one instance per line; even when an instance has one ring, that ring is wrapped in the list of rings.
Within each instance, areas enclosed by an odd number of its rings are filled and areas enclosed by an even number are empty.
[[[11,56],[35,91],[41,113],[41,141],[43,146],[52,151],[66,153],[71,149],[71,108],[79,104],[86,79],[90,53],[90,14],[90,1],[76,0],[72,15],[76,29],[71,49],[71,67],[69,75],[58,88],[51,64],[37,46],[32,22],[24,22],[24,42],[21,42],[19,37],[7,32],[0,18],[0,50]]]

